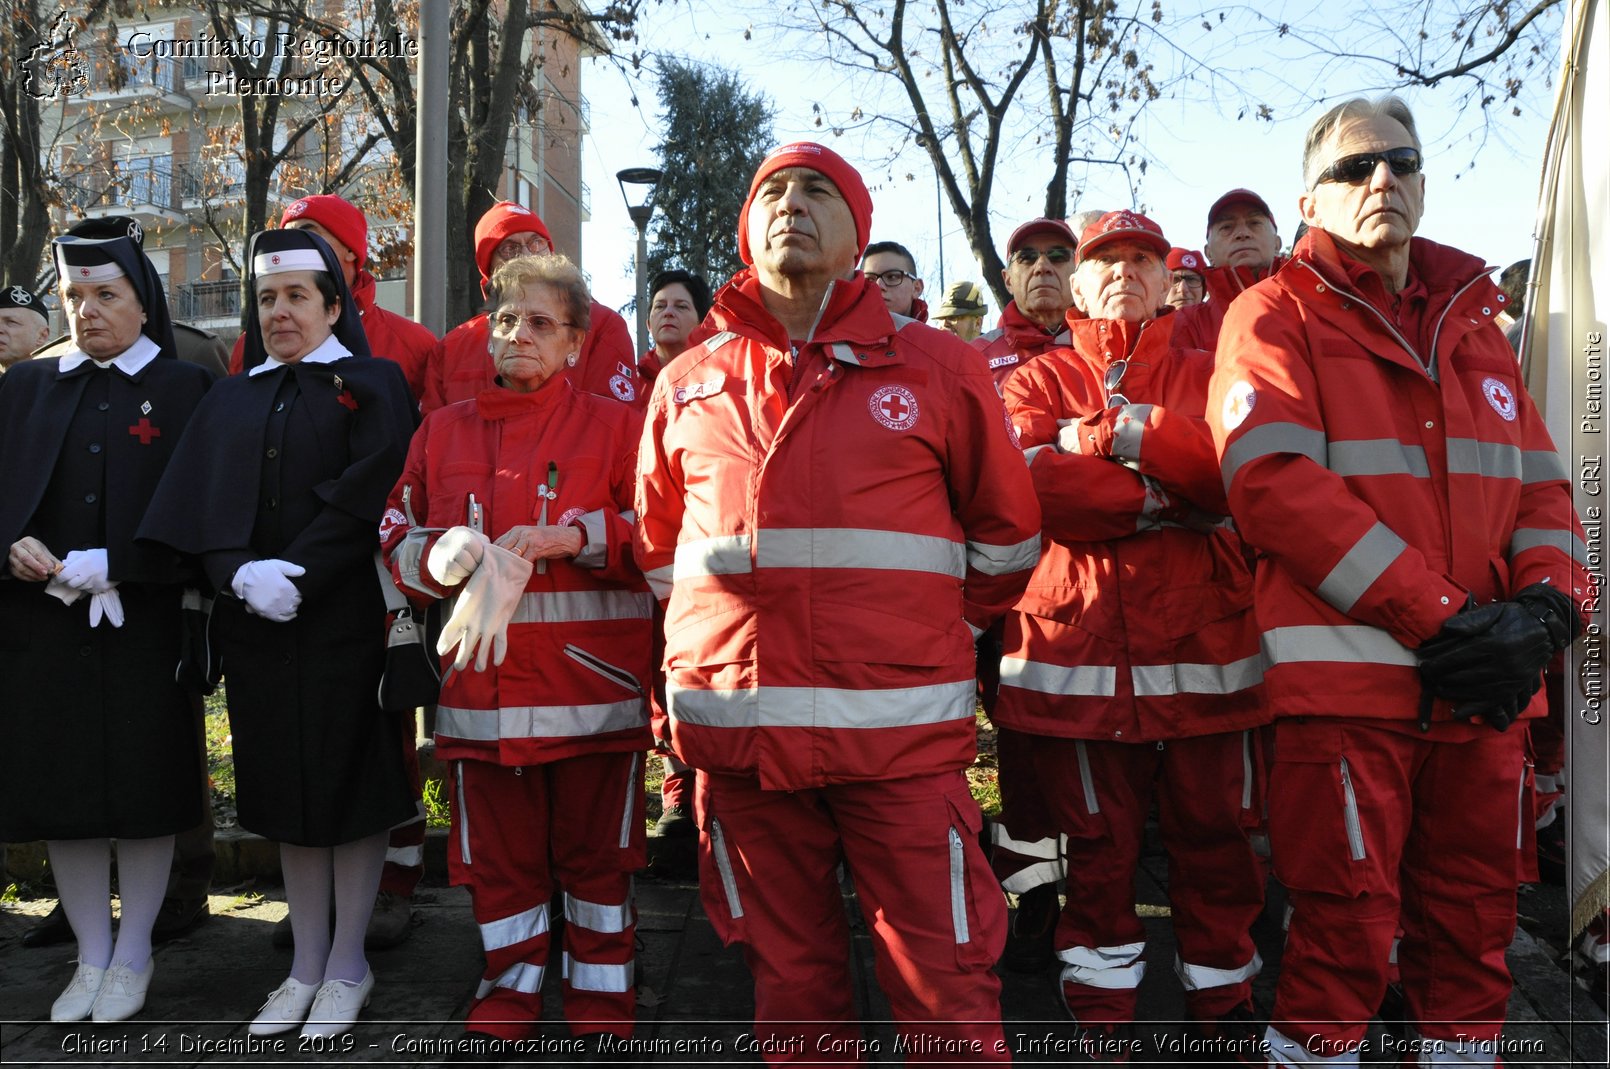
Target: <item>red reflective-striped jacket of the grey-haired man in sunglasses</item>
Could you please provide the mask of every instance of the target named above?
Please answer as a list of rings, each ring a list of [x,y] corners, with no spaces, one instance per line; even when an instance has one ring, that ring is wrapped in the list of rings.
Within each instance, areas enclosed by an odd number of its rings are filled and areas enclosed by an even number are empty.
[[[1393,299],[1309,230],[1225,319],[1208,420],[1236,526],[1262,554],[1280,716],[1414,720],[1414,650],[1467,596],[1544,580],[1587,596],[1568,473],[1492,322],[1504,296],[1488,270],[1414,238],[1412,285]]]

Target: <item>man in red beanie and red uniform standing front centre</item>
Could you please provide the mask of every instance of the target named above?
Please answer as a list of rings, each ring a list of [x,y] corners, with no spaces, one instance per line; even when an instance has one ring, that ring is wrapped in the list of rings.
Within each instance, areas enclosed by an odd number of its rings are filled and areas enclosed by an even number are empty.
[[[705,914],[744,947],[766,1061],[860,1061],[842,861],[902,1042],[1009,1063],[1006,908],[963,770],[972,639],[1022,592],[1040,509],[984,362],[857,272],[871,208],[831,150],[771,153],[737,224],[750,267],[654,383],[658,729],[700,770]]]

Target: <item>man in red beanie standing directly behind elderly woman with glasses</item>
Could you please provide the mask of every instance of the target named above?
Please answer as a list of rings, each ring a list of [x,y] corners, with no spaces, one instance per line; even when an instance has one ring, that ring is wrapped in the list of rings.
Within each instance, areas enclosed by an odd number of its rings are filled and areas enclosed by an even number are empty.
[[[514,201],[493,204],[475,224],[475,266],[481,272],[481,285],[515,256],[552,251],[554,238],[543,219]],[[570,382],[586,393],[641,407],[647,401],[647,383],[638,374],[638,354],[626,320],[597,301],[592,301],[591,319]],[[493,385],[488,341],[486,316],[472,316],[448,332],[430,359],[422,412],[467,401]]]

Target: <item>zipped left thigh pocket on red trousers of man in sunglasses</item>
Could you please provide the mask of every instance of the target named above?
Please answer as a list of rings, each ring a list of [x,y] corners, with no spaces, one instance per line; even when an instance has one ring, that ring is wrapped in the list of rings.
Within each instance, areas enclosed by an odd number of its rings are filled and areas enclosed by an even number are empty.
[[[1346,753],[1275,757],[1269,840],[1275,877],[1288,889],[1346,898],[1364,894],[1370,852]]]

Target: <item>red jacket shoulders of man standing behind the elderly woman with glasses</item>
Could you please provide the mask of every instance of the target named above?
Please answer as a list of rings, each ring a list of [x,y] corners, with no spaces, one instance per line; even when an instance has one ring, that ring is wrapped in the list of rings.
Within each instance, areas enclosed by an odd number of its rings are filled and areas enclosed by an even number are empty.
[[[642,409],[649,391],[638,374],[626,320],[597,301],[592,301],[591,320],[581,359],[570,369],[570,382],[581,393],[615,398]],[[489,335],[486,317],[472,316],[436,343],[425,375],[425,396],[420,398],[422,412],[428,415],[446,404],[467,401],[494,385],[496,372],[486,353]]]

